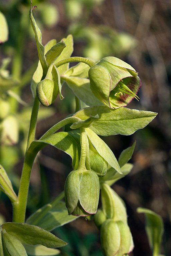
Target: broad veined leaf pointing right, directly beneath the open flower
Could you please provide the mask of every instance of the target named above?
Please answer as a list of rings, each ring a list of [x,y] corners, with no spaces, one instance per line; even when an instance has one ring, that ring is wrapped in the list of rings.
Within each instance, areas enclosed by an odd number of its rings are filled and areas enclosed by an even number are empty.
[[[90,115],[95,116],[96,114],[99,115],[99,119],[93,122],[91,130],[102,136],[133,134],[148,125],[157,115],[155,112],[125,107],[110,109],[106,106],[95,106],[84,108],[74,116],[86,120]]]

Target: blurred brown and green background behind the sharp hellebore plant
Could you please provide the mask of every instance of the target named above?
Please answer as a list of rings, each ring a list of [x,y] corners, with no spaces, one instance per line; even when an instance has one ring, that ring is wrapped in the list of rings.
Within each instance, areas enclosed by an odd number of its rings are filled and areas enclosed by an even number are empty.
[[[143,130],[131,136],[103,138],[118,158],[121,151],[133,144],[131,173],[116,182],[113,189],[124,199],[128,223],[135,249],[131,256],[152,255],[144,229],[144,216],[136,212],[145,207],[161,215],[165,232],[162,254],[171,255],[171,1],[169,0],[33,0],[37,5],[34,17],[42,31],[42,44],[68,34],[74,38],[73,56],[100,60],[115,56],[128,62],[142,80],[140,101],[129,108],[158,112]],[[11,113],[17,120],[16,141],[1,135],[0,161],[17,191],[23,163],[23,152],[29,128],[31,77],[38,54],[29,23],[30,1],[0,0],[0,11],[6,16],[9,40],[0,45],[1,65],[10,58],[7,69],[19,80],[15,93],[27,103],[10,97]],[[59,98],[52,107],[41,106],[36,137],[53,124],[74,113],[74,97],[62,88],[65,99]],[[22,103],[22,104],[21,104]],[[12,125],[13,126],[13,125]],[[14,125],[15,126],[15,125]],[[13,126],[13,127],[14,127]],[[16,127],[16,126],[15,126]],[[13,145],[13,146],[11,146]],[[31,176],[28,198],[29,216],[48,203],[64,188],[65,178],[72,170],[71,159],[63,152],[47,146],[38,155]],[[12,208],[8,198],[0,194],[1,222],[11,221]],[[99,233],[92,221],[79,218],[55,231],[69,242],[60,255],[102,256]]]

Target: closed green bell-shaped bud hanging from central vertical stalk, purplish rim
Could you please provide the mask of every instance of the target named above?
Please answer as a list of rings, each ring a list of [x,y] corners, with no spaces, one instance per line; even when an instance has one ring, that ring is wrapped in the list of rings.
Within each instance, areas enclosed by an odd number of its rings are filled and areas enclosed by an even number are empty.
[[[89,216],[97,212],[99,202],[99,178],[86,168],[73,170],[65,181],[65,203],[68,214]]]

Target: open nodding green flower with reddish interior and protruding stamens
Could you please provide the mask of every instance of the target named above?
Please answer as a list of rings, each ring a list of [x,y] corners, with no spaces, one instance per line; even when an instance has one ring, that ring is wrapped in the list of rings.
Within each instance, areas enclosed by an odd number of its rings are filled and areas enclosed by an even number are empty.
[[[124,107],[141,88],[141,80],[133,67],[116,57],[105,57],[89,69],[90,88],[110,108]]]

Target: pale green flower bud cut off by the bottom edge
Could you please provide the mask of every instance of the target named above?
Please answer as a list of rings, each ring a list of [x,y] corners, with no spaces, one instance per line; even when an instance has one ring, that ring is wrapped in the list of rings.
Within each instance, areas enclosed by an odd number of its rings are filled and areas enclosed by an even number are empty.
[[[130,229],[122,221],[106,220],[100,229],[102,251],[105,256],[123,256],[133,248]]]

